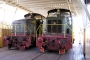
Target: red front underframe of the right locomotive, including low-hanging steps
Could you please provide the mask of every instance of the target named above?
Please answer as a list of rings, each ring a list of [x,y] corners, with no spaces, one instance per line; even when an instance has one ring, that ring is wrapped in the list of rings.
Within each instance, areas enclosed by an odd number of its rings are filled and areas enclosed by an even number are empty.
[[[64,54],[66,51],[72,48],[71,37],[39,37],[37,41],[37,46],[40,48],[41,52],[45,50],[59,51],[59,54]]]

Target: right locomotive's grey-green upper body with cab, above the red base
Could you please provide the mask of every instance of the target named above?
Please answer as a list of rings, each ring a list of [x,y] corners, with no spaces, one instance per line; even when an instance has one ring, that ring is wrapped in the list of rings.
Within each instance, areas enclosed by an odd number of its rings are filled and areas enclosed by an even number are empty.
[[[69,29],[72,29],[71,12],[69,10],[54,9],[48,11],[46,23],[47,33],[72,34],[72,31]],[[69,27],[65,26],[65,24],[67,24]]]

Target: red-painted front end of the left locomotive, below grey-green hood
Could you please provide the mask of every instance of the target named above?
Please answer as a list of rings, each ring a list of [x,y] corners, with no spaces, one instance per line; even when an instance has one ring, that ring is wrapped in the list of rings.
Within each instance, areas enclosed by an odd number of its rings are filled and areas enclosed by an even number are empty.
[[[25,47],[30,47],[31,44],[31,37],[35,37],[34,34],[30,35],[24,35],[24,34],[11,34],[11,36],[9,36],[10,39],[8,40],[8,36],[5,36],[4,42],[6,44],[6,46],[8,46],[8,44],[12,44],[12,47],[18,47],[20,50],[25,49]],[[12,38],[13,37],[13,38]],[[32,40],[33,41],[33,40]]]

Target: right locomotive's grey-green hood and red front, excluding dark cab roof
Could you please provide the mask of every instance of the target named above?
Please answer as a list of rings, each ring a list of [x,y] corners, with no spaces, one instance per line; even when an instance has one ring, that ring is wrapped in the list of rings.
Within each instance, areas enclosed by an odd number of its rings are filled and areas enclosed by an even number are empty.
[[[64,54],[72,48],[72,21],[70,17],[47,17],[43,24],[43,35],[37,39],[37,47],[41,52],[45,50],[59,51]]]

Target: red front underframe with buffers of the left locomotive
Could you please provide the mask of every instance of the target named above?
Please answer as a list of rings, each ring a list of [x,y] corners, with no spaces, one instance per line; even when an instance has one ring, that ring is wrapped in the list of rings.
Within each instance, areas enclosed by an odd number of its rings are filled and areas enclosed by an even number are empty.
[[[8,49],[17,47],[19,50],[24,50],[35,44],[35,40],[31,40],[29,36],[5,36],[4,41]]]

